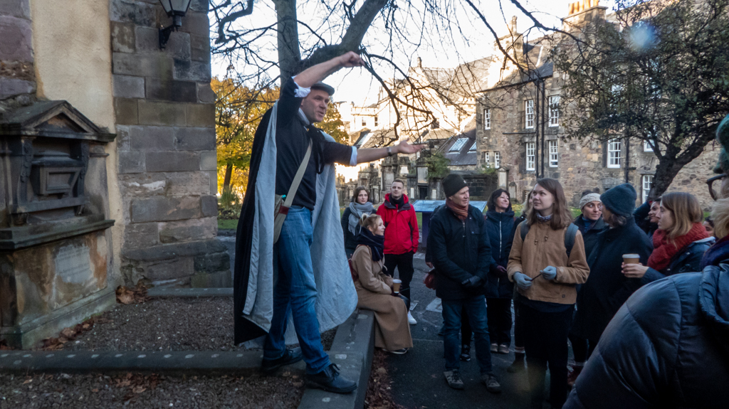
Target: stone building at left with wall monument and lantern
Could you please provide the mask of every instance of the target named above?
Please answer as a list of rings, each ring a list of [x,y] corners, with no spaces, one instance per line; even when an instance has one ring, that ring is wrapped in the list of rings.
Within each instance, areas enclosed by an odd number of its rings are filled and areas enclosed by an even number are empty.
[[[230,285],[208,1],[0,1],[0,337],[34,346],[117,285]]]

